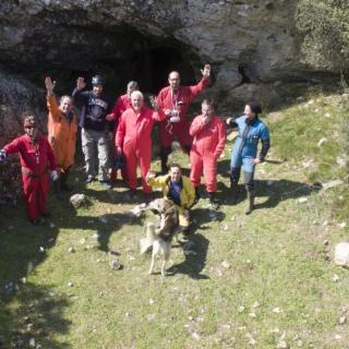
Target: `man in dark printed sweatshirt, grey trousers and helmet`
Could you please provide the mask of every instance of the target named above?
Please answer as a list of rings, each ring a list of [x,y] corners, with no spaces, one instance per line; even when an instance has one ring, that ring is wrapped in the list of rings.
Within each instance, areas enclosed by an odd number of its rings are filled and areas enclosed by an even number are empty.
[[[82,148],[85,157],[86,182],[91,183],[95,178],[95,154],[98,154],[98,180],[104,189],[109,189],[109,152],[108,142],[112,134],[112,124],[106,117],[111,112],[112,104],[104,93],[105,80],[100,75],[92,79],[92,91],[84,91],[86,83],[84,77],[77,77],[76,88],[72,96],[81,101],[80,125],[82,128]]]

